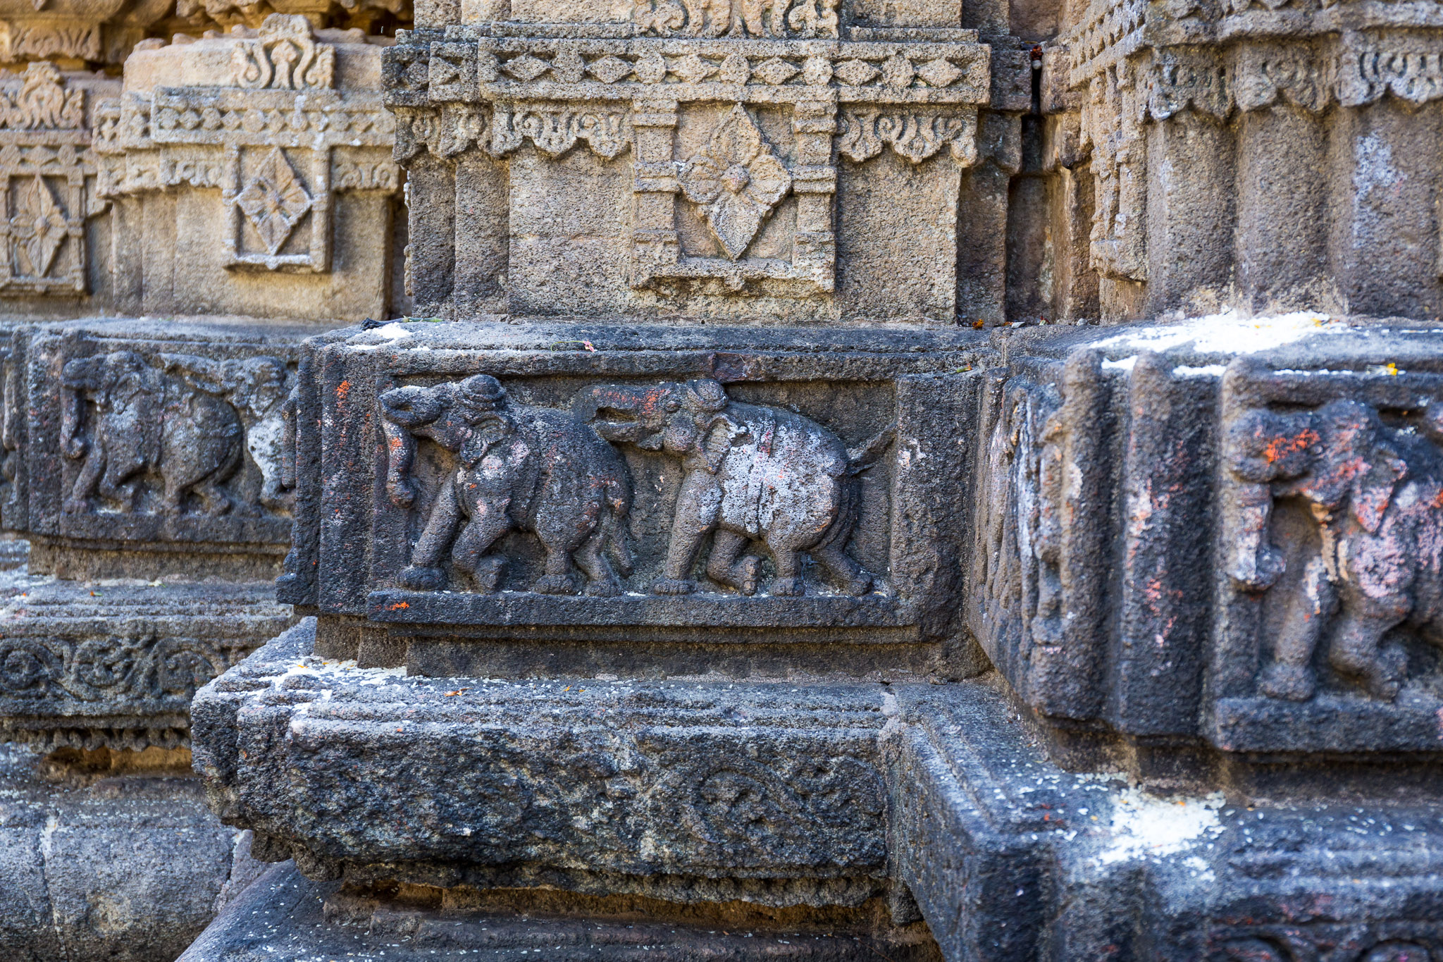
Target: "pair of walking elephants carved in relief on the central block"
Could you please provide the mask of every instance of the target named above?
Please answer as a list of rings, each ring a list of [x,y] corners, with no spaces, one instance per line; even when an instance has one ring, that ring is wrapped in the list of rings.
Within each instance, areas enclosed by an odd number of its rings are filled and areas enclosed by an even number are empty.
[[[847,594],[873,590],[873,575],[846,550],[857,522],[854,479],[876,463],[895,428],[848,450],[799,414],[732,401],[711,379],[597,385],[582,391],[571,411],[560,411],[517,405],[495,378],[475,375],[394,388],[380,405],[387,490],[398,506],[418,506],[411,477],[417,438],[456,456],[400,575],[407,588],[444,587],[450,565],[482,591],[495,591],[506,567],[495,550],[504,535],[521,531],[534,534],[545,552],[532,591],[618,594],[620,578],[636,567],[628,531],[633,485],[620,456],[631,447],[677,459],[681,469],[651,593],[697,591],[691,573],[709,539],[707,577],[742,596],[763,588],[804,594],[804,555]],[[753,544],[775,562],[769,587]]]

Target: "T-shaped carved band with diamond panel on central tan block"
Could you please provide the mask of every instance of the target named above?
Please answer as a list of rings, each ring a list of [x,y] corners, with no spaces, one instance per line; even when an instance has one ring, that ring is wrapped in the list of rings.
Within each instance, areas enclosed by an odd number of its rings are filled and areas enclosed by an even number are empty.
[[[502,157],[532,144],[553,159],[582,141],[603,159],[629,147],[625,277],[661,297],[834,293],[838,133],[859,163],[887,146],[913,163],[947,147],[965,167],[977,160],[975,105],[990,95],[990,50],[962,40],[492,36],[400,45],[385,69],[403,163],[423,147]],[[706,136],[685,134],[713,104],[730,111]],[[838,104],[857,105],[841,108],[841,124]],[[678,226],[690,218],[711,242]]]

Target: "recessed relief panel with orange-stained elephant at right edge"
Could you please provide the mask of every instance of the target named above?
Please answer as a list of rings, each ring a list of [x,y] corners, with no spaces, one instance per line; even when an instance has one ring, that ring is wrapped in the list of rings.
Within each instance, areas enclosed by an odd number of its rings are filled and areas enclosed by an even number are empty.
[[[1271,711],[1431,717],[1429,652],[1443,645],[1436,378],[1237,361],[1224,391],[1224,645],[1235,665],[1255,665],[1251,679],[1235,669],[1235,697],[1251,687]]]

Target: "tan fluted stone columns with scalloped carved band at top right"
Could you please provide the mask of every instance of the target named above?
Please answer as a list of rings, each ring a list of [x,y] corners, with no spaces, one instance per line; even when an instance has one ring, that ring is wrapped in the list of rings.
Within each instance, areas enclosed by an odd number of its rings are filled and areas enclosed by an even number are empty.
[[[1063,19],[1085,102],[1046,110],[1079,120],[1062,166],[1094,182],[1102,316],[1439,314],[1434,4],[1097,0]]]

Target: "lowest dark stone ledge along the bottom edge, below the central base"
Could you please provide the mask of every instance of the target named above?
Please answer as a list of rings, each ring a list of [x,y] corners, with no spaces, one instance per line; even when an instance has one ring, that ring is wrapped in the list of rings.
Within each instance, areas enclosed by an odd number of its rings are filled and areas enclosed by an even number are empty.
[[[478,893],[423,886],[390,886],[380,891],[384,893],[380,897],[356,894],[336,883],[310,881],[290,864],[277,865],[228,906],[180,958],[183,962],[277,956],[429,959],[437,953],[495,959],[540,953],[570,959],[818,962],[877,955],[899,962],[938,958],[937,945],[918,926],[892,929],[856,914],[807,919],[730,904],[698,917],[646,900],[567,900],[545,893],[518,899],[501,893],[501,899],[478,900]],[[569,909],[571,917],[564,914]],[[584,920],[574,917],[577,909],[590,910]]]

